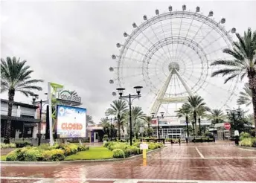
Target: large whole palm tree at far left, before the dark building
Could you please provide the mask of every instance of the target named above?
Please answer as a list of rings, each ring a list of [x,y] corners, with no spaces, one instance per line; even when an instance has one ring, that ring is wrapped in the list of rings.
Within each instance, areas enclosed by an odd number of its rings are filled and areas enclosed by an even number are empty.
[[[8,114],[4,134],[4,143],[7,144],[10,144],[10,126],[15,92],[21,92],[28,97],[30,94],[34,94],[32,90],[42,90],[41,87],[36,86],[36,83],[41,83],[43,80],[31,79],[33,70],[30,70],[30,66],[25,65],[26,62],[26,60],[17,60],[16,57],[7,57],[6,60],[1,58],[1,93],[8,92]]]

